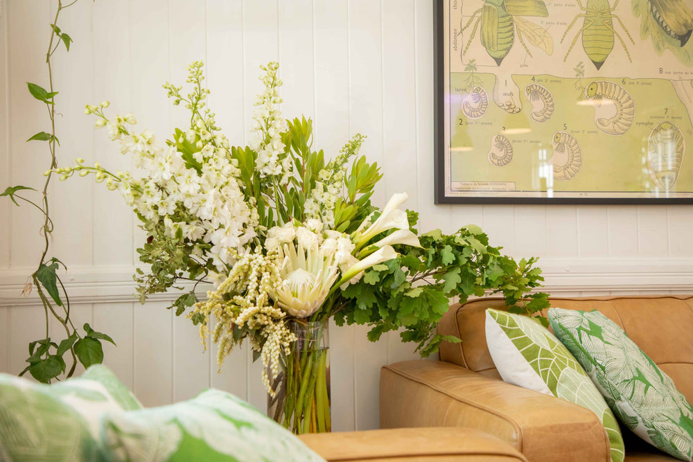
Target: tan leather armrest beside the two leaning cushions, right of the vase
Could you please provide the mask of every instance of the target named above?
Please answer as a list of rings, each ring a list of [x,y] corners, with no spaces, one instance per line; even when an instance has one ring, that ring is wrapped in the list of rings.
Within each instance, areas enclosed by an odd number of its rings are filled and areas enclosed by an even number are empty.
[[[417,360],[380,371],[380,427],[471,427],[532,462],[610,460],[589,409],[447,362]]]

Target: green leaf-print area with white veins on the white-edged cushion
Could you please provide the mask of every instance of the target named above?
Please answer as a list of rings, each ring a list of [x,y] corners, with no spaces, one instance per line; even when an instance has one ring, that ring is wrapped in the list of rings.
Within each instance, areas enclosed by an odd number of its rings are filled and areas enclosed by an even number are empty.
[[[611,461],[623,461],[624,444],[616,418],[570,351],[549,330],[528,317],[491,309],[486,313],[486,322],[492,320],[501,328],[553,396],[597,414],[608,435]]]

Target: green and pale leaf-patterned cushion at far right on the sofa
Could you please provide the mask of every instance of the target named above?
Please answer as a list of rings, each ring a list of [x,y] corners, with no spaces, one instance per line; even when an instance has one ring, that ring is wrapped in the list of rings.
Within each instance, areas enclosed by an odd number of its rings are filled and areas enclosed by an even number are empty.
[[[552,308],[548,317],[619,420],[658,449],[691,461],[693,408],[626,332],[596,310]]]

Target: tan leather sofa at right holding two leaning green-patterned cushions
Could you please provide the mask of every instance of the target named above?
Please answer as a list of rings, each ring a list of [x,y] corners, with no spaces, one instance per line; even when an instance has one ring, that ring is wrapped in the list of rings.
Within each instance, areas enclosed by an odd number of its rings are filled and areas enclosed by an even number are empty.
[[[599,310],[621,326],[693,402],[693,296],[552,298],[552,307]],[[500,380],[486,347],[486,308],[502,299],[453,305],[441,320],[440,361],[407,361],[380,372],[380,427],[471,427],[530,462],[608,461],[608,440],[593,412]],[[674,461],[622,429],[626,462]]]

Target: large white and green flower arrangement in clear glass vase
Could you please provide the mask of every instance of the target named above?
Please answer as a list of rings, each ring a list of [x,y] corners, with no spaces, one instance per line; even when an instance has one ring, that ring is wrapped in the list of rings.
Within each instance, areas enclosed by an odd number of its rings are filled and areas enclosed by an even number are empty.
[[[138,249],[150,265],[137,270],[142,301],[180,279],[214,284],[206,300],[193,288],[171,308],[188,311],[203,342],[211,334],[220,366],[248,339],[265,365],[270,396],[282,376],[293,377],[278,420],[295,432],[329,429],[328,392],[315,373],[326,368],[324,352],[310,347],[291,359],[295,324],[368,324],[371,341],[402,329],[403,341],[427,356],[441,341],[459,341],[435,332],[453,297],[501,292],[512,310],[527,314],[547,305],[545,294],[530,293],[543,281],[534,258],[503,256],[473,225],[450,236],[420,234],[418,215],[400,208],[406,194],[383,209],[371,204],[382,175],[359,155],[365,136],[353,136],[328,161],[313,149],[309,120],[282,118],[277,63],[261,69],[265,91],[254,102],[249,146],[232,146],[220,132],[206,107],[202,63],[195,62],[189,94],[164,85],[173,104],[191,112],[190,127],[165,143],[147,130],[134,132],[132,114],[109,119],[107,102],[87,105],[96,127],[134,158],[141,176],[82,159],[55,172],[61,179],[93,174],[133,208],[148,236]]]

